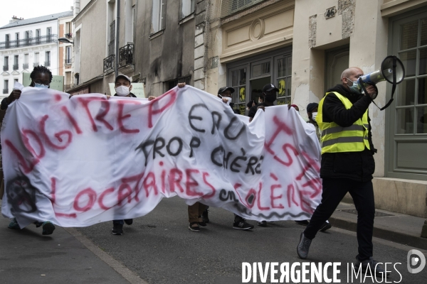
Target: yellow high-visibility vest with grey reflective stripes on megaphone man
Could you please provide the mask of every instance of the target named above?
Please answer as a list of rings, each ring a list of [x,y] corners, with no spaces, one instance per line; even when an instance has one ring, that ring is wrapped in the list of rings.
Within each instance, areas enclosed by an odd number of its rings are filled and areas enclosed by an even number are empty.
[[[341,152],[360,152],[364,151],[364,148],[369,148],[368,133],[368,110],[362,116],[362,119],[357,119],[352,126],[342,127],[334,122],[323,121],[323,102],[329,93],[326,93],[325,97],[320,100],[319,108],[317,111],[316,121],[320,134],[320,145],[322,146],[323,153],[341,153]],[[342,96],[337,92],[335,94],[346,109],[352,107],[352,102],[346,97]]]

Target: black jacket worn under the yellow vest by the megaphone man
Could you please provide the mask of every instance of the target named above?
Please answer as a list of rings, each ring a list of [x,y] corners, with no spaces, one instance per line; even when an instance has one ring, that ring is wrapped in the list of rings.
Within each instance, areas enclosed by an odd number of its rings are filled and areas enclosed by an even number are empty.
[[[357,96],[351,94],[342,84],[328,89],[327,92],[338,92],[344,97],[347,97],[353,106],[346,109],[344,104],[338,99],[335,94],[328,94],[323,102],[322,115],[324,122],[335,122],[339,126],[348,127],[354,124],[357,119],[362,118],[367,111],[372,99],[363,94]],[[372,144],[371,119],[368,116],[369,123],[369,150],[364,148],[360,152],[346,153],[324,153],[322,154],[322,167],[320,168],[321,178],[347,178],[367,182],[372,179],[372,174],[375,170],[374,145]]]

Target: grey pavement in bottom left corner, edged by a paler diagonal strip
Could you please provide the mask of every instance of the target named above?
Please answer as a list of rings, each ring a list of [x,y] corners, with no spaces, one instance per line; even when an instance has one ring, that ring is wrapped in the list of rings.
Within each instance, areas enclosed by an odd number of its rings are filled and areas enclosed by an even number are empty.
[[[42,236],[41,227],[8,224],[0,217],[0,283],[144,283],[75,229]]]

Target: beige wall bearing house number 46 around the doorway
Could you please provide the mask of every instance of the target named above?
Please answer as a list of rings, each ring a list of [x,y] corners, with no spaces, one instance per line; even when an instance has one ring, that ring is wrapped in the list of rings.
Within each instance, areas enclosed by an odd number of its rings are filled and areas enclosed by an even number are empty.
[[[383,0],[300,0],[295,4],[292,46],[292,102],[303,114],[310,102],[319,102],[325,88],[325,50],[349,44],[349,66],[365,74],[379,69],[387,55],[388,18],[381,17]],[[335,7],[336,16],[326,18]],[[369,7],[370,9],[367,9]],[[379,107],[386,104],[386,82],[377,84]],[[374,176],[384,177],[385,111],[369,107],[376,153]]]

